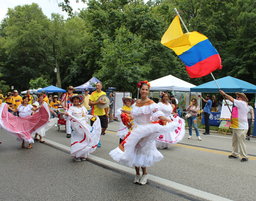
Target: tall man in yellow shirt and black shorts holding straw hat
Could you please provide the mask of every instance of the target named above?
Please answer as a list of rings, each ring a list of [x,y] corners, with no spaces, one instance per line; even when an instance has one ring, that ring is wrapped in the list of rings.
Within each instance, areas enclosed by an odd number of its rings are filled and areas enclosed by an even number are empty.
[[[100,119],[101,135],[102,135],[105,132],[106,128],[108,128],[109,115],[108,115],[107,108],[100,108],[97,105],[97,104],[101,104],[104,102],[103,100],[100,100],[97,102],[97,99],[101,95],[106,95],[105,92],[101,91],[101,88],[102,88],[101,82],[97,82],[96,83],[96,91],[91,94],[91,97],[89,99],[89,105],[92,106],[91,115],[96,115]],[[91,120],[91,125],[93,125],[93,123],[94,122]]]

